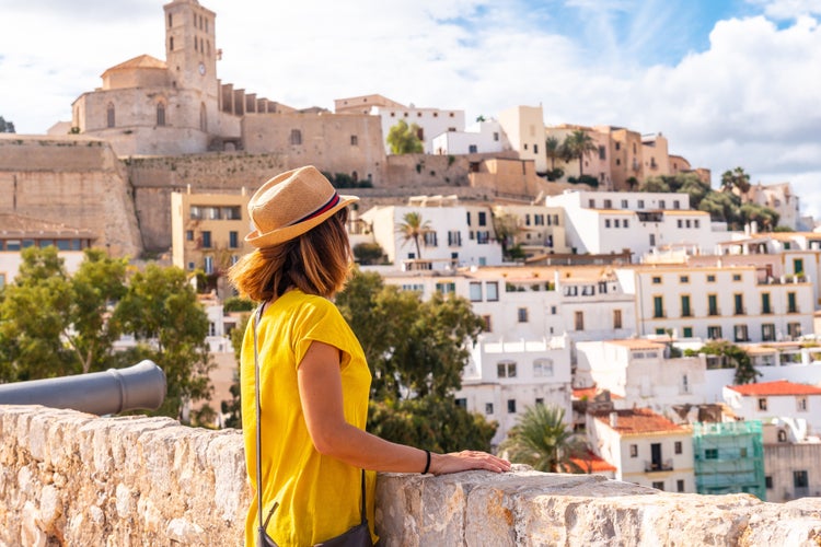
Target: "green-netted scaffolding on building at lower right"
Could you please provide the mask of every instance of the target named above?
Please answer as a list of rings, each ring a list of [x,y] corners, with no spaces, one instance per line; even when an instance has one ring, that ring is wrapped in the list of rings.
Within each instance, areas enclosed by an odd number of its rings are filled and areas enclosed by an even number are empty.
[[[693,424],[698,493],[752,493],[766,501],[764,442],[759,420]]]

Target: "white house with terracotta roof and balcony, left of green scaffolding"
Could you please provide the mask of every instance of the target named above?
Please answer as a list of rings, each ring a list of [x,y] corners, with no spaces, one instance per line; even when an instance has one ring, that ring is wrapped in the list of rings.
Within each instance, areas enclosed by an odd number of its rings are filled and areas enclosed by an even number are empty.
[[[588,414],[588,442],[616,480],[695,492],[692,432],[648,408]]]

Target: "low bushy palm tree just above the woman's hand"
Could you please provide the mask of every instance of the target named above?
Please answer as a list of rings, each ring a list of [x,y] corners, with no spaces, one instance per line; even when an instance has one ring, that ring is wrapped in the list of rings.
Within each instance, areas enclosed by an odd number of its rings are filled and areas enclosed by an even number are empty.
[[[585,443],[564,420],[565,410],[557,406],[527,407],[499,450],[539,472],[582,473],[571,458],[585,454]]]

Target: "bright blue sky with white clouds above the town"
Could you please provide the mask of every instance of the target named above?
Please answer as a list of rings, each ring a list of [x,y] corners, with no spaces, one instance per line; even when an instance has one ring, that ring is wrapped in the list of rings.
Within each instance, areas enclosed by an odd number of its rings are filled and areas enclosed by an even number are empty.
[[[0,115],[70,119],[105,69],[164,58],[164,0],[0,0]],[[663,132],[672,153],[790,182],[821,218],[821,0],[200,1],[223,82],[294,107],[380,93],[467,119]]]

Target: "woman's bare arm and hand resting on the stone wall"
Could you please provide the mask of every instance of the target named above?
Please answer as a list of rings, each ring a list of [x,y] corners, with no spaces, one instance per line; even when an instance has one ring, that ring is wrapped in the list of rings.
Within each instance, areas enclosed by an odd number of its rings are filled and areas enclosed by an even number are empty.
[[[312,342],[297,377],[308,431],[321,454],[378,472],[420,473],[425,469],[424,450],[385,441],[345,421],[337,348]],[[501,473],[510,470],[510,463],[486,452],[431,454],[429,472],[435,475],[467,469]]]

